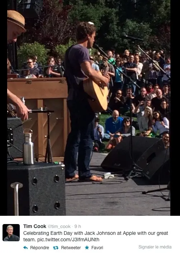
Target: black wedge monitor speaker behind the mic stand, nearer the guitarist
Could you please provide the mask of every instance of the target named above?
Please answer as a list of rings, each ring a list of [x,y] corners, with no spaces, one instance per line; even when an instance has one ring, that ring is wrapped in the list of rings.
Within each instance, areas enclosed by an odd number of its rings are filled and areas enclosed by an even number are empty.
[[[164,149],[162,140],[157,138],[148,138],[133,136],[133,160],[134,163],[141,157],[141,155],[150,149],[149,155],[152,152],[161,151]],[[161,146],[159,146],[161,144]],[[158,146],[157,146],[158,145]],[[128,171],[131,169],[131,137],[124,138],[113,150],[109,152],[104,161],[101,163],[103,169],[118,169],[122,171]],[[140,167],[140,166],[139,166]]]

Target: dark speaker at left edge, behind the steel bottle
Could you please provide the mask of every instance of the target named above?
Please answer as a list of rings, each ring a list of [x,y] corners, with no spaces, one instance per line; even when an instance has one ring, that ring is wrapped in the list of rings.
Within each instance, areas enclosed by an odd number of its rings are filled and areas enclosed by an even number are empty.
[[[21,118],[7,118],[7,141],[23,151],[24,133]],[[12,158],[23,158],[23,153],[15,149],[13,146],[8,145],[8,150]],[[7,155],[7,159],[9,158],[9,155]]]

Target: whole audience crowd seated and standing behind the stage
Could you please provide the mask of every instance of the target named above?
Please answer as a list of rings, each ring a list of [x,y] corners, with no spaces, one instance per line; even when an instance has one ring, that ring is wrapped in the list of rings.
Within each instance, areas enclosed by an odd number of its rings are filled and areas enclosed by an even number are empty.
[[[170,76],[170,56],[165,56],[163,51],[146,53],[153,62],[143,53],[135,51],[132,54],[129,50],[125,50],[122,55],[109,50],[109,59],[100,52],[90,56],[93,69],[103,75],[106,72],[110,75],[108,110],[105,113],[110,113],[112,117],[106,119],[105,127],[99,124],[99,118],[96,117],[96,152],[105,146],[103,141],[108,141],[105,143],[107,150],[113,149],[123,138],[130,136],[131,131],[133,136],[163,138],[166,147],[169,145],[170,79],[166,74]],[[37,56],[27,56],[27,61],[19,71],[14,71],[7,60],[8,75],[17,74],[19,78],[63,77],[64,71],[60,57],[48,57],[47,66],[42,68]],[[129,118],[130,110],[133,120]]]

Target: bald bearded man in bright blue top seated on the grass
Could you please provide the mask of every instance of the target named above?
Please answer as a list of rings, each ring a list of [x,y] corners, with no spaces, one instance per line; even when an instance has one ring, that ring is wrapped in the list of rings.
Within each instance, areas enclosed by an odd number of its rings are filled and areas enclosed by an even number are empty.
[[[114,110],[112,117],[109,117],[105,121],[105,134],[104,138],[109,139],[114,136],[115,132],[122,127],[123,118],[119,116],[119,112]]]

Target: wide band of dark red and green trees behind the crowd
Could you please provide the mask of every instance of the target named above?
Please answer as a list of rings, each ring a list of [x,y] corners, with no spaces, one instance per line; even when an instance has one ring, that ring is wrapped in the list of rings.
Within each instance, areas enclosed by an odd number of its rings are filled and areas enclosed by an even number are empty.
[[[80,21],[95,24],[96,42],[104,50],[133,50],[136,46],[122,39],[123,34],[146,40],[141,43],[144,48],[170,49],[170,0],[44,0],[41,17],[34,27],[29,25],[32,30],[27,29],[25,42],[40,42],[51,52],[57,46],[63,56]]]

